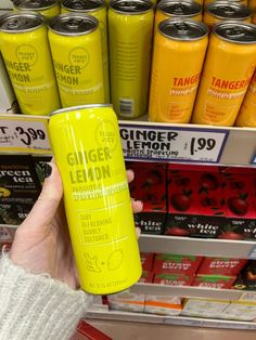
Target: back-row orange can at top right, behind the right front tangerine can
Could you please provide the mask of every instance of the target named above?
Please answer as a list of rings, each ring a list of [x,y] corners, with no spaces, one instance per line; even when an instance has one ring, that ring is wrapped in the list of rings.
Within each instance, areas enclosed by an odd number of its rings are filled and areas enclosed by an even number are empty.
[[[223,21],[240,21],[251,23],[252,11],[244,4],[216,1],[207,5],[204,11],[204,23],[208,27]]]

